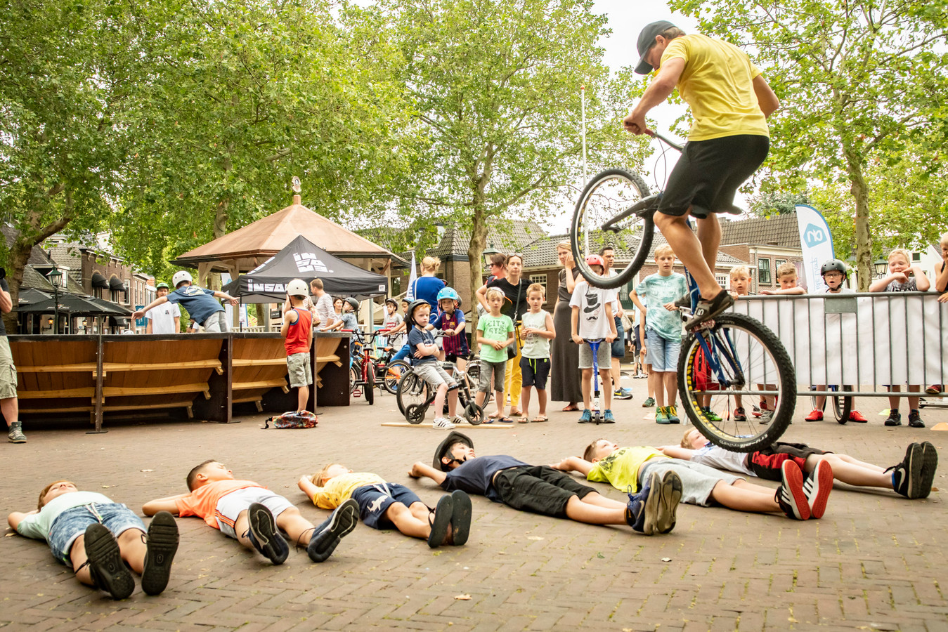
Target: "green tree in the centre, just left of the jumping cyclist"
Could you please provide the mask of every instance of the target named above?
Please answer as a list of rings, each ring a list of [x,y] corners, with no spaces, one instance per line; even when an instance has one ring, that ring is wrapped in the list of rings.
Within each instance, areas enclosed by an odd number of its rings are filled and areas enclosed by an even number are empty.
[[[581,86],[591,162],[641,160],[644,144],[620,125],[629,85],[610,82],[596,44],[608,32],[606,18],[593,13],[592,0],[382,0],[380,7],[379,26],[401,52],[392,74],[408,86],[430,142],[416,155],[414,190],[403,193],[398,210],[415,222],[424,216],[469,228],[471,262],[482,261],[487,228],[505,215],[540,219],[550,208],[572,207]],[[613,105],[619,94],[627,99]],[[480,265],[471,265],[470,280],[480,287]]]

